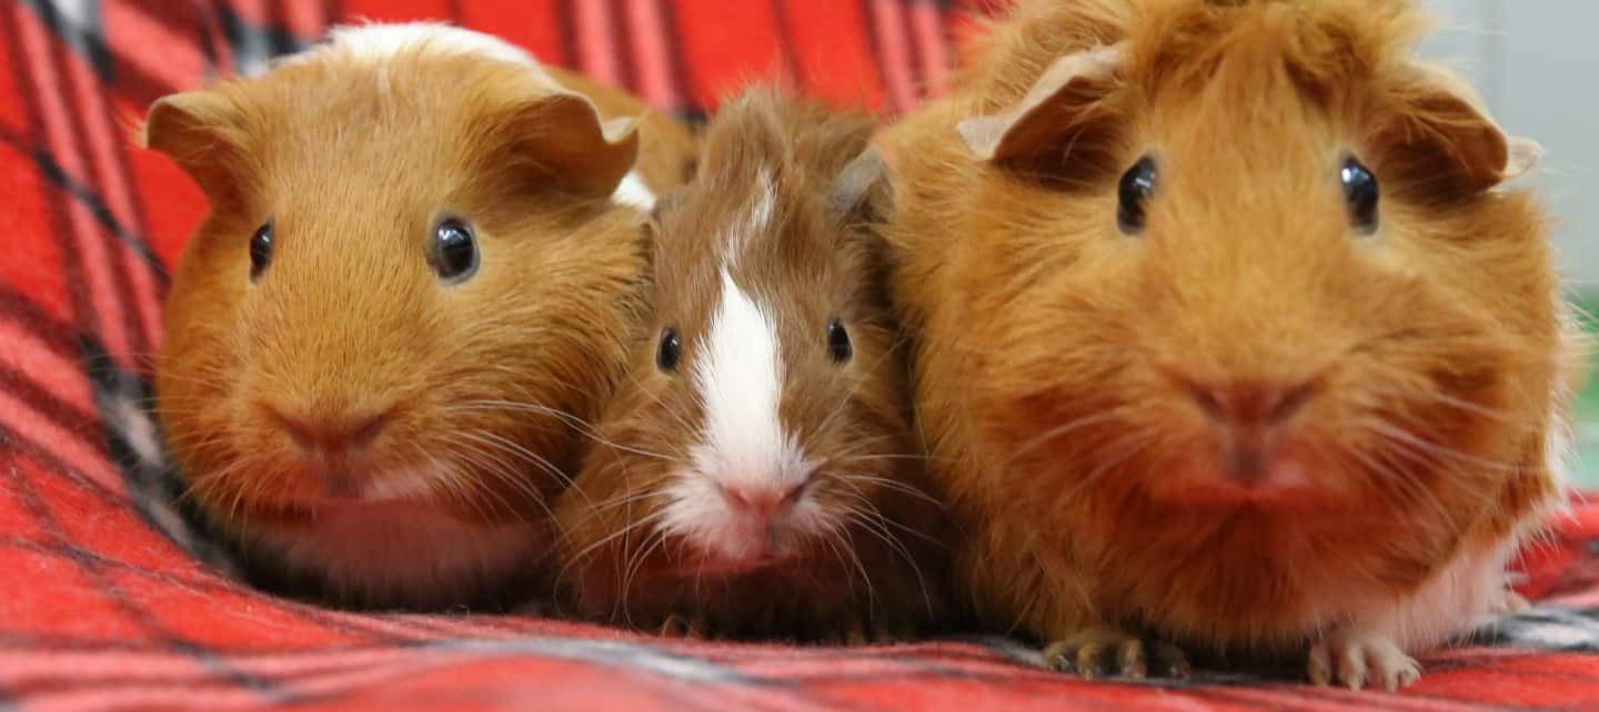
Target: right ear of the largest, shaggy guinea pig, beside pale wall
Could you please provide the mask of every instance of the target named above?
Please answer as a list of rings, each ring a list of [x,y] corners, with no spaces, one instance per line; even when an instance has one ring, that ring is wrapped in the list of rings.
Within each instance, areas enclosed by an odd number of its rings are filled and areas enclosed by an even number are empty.
[[[1466,192],[1492,188],[1530,171],[1543,148],[1505,134],[1481,97],[1455,73],[1412,64],[1398,85],[1399,117],[1377,140],[1422,180],[1452,179]]]

